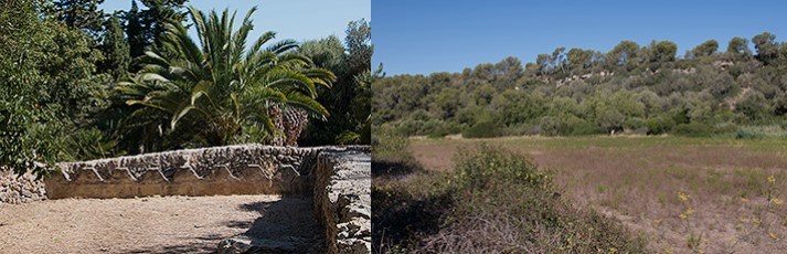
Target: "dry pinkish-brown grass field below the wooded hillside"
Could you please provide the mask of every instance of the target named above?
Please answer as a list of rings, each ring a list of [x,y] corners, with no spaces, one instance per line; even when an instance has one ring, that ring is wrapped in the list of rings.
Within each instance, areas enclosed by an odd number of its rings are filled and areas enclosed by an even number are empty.
[[[787,139],[509,137],[413,139],[428,170],[451,169],[460,147],[521,152],[571,201],[620,220],[659,253],[787,250]]]

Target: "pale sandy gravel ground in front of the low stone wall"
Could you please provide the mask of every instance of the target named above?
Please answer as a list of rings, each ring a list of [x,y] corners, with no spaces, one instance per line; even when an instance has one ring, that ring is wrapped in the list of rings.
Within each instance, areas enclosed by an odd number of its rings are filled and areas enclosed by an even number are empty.
[[[234,234],[319,242],[310,198],[65,199],[0,205],[0,253],[210,253]]]

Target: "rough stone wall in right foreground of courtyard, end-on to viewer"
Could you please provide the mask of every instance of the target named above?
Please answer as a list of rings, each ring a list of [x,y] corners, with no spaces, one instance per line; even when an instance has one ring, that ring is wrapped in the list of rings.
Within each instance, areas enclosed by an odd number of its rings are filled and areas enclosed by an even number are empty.
[[[329,253],[371,253],[369,147],[325,150],[318,157],[315,212],[326,226]]]

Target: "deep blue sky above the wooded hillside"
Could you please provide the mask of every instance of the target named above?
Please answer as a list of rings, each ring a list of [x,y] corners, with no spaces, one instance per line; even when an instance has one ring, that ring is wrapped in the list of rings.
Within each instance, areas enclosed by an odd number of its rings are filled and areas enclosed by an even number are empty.
[[[787,1],[461,1],[372,3],[372,66],[389,75],[460,72],[513,55],[523,63],[559,46],[607,52],[623,40],[678,44],[768,31],[787,41]]]

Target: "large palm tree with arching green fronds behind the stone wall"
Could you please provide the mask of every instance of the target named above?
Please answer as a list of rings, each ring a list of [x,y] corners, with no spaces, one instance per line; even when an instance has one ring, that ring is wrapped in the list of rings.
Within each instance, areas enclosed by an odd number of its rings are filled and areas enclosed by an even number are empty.
[[[316,86],[330,87],[336,76],[297,53],[293,40],[264,47],[274,32],[246,49],[254,11],[256,7],[233,31],[235,13],[228,17],[225,9],[221,17],[215,11],[206,17],[189,7],[201,46],[182,24],[168,23],[161,46],[147,51],[136,77],[116,89],[126,104],[138,105],[132,115],[139,118],[128,123],[158,125],[160,133],[193,131],[199,142],[222,146],[237,140],[244,129],[262,130],[268,139],[281,135],[268,114],[272,109],[296,108],[327,117],[328,110],[315,99]],[[163,114],[169,123],[161,125],[151,114]]]

